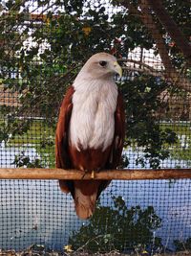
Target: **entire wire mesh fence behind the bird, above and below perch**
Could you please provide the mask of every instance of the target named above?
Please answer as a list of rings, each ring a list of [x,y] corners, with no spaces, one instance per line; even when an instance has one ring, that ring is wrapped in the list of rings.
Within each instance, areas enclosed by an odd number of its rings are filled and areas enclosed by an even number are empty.
[[[0,168],[54,167],[63,95],[86,59],[103,51],[123,67],[120,167],[190,168],[189,10],[189,1],[159,1],[157,11],[143,0],[2,1]],[[115,180],[93,218],[79,221],[56,180],[1,180],[0,248],[190,250],[190,189],[189,179]]]

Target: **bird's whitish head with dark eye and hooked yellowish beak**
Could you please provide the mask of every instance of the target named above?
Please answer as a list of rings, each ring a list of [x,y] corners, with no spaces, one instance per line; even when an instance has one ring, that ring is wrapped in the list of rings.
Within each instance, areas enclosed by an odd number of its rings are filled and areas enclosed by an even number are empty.
[[[114,74],[122,76],[122,68],[117,58],[107,53],[98,53],[87,60],[79,72],[79,76],[88,79],[111,79]]]

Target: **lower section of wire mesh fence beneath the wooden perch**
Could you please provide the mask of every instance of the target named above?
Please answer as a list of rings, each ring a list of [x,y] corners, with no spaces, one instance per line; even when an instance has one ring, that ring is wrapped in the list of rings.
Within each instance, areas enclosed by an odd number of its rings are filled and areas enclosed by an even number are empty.
[[[191,231],[189,195],[186,179],[113,181],[95,219],[79,221],[73,199],[60,192],[57,181],[2,180],[1,247],[23,250],[41,244],[60,251],[72,244],[74,250],[130,253],[139,246],[153,254],[185,250]]]

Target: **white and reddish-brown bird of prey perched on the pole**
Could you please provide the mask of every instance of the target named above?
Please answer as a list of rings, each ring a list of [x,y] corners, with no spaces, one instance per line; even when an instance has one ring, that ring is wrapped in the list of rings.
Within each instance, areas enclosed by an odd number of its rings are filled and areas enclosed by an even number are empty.
[[[125,135],[125,111],[115,75],[122,76],[117,58],[97,53],[89,58],[59,110],[55,132],[56,168],[92,174],[90,180],[59,180],[62,192],[71,193],[79,219],[89,219],[96,200],[111,180],[96,180],[101,170],[117,169]]]

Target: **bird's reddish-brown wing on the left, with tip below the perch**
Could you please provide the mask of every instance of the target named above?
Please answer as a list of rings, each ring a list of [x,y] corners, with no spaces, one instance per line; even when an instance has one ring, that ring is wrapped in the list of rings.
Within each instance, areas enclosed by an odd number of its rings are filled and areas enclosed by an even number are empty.
[[[56,168],[70,169],[72,163],[69,155],[68,133],[70,120],[73,110],[73,94],[74,87],[70,86],[63,99],[60,107],[56,132],[55,132],[55,164]],[[68,193],[73,188],[70,188],[70,181],[59,180],[60,188],[63,192]]]

